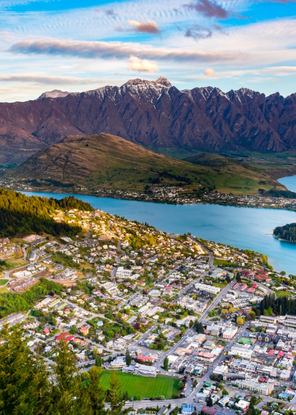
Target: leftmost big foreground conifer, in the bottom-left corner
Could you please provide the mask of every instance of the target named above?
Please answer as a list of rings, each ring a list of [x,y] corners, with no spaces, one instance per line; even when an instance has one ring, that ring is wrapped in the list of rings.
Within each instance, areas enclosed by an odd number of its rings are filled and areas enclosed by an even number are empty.
[[[43,414],[49,408],[49,381],[44,362],[32,359],[18,326],[2,330],[0,346],[0,414]]]

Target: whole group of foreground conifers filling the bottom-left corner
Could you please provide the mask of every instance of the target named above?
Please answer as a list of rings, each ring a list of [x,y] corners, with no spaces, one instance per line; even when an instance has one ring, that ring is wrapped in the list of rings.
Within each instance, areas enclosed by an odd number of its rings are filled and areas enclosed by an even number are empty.
[[[0,346],[0,414],[126,415],[121,384],[113,373],[107,390],[100,387],[101,367],[92,367],[87,381],[74,363],[65,340],[57,346],[50,374],[46,363],[32,355],[22,330],[2,330]],[[108,408],[106,402],[109,403]]]

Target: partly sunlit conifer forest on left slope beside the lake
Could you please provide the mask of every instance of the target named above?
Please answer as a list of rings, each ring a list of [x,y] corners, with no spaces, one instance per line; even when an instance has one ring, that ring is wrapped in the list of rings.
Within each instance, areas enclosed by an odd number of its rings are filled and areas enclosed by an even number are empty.
[[[0,237],[24,236],[30,233],[48,233],[53,236],[75,236],[81,232],[80,226],[57,223],[49,215],[55,209],[93,210],[89,203],[73,196],[61,200],[26,196],[23,193],[0,188]]]

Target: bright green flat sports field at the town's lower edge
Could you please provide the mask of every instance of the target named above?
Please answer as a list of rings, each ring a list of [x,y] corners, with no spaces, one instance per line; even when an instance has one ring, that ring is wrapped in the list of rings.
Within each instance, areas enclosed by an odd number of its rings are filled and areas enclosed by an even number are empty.
[[[103,388],[109,386],[112,372],[105,370],[100,376],[100,385]],[[156,378],[144,378],[143,376],[130,375],[129,373],[116,372],[117,379],[122,384],[122,392],[128,391],[130,396],[140,395],[142,398],[154,398],[164,395],[166,399],[177,395],[178,383],[180,380],[164,375],[157,375]]]

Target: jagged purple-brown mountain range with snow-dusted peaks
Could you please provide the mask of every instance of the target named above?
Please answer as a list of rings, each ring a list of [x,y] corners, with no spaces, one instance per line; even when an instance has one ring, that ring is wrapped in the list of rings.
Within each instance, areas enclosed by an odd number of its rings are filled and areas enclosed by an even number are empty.
[[[2,162],[23,161],[66,135],[99,133],[154,148],[279,152],[296,148],[296,94],[265,97],[246,88],[224,93],[210,86],[180,91],[161,77],[0,103]]]

